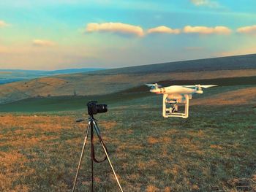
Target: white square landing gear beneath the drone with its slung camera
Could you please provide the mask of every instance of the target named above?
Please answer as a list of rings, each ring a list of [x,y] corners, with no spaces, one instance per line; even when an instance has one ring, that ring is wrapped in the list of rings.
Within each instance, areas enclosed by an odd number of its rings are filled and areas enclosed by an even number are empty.
[[[162,116],[164,118],[176,117],[176,118],[188,118],[189,117],[189,96],[184,95],[184,101],[178,101],[176,99],[167,99],[168,95],[164,94],[162,99]],[[184,112],[178,112],[178,103],[184,104]],[[167,105],[169,107],[167,107]]]

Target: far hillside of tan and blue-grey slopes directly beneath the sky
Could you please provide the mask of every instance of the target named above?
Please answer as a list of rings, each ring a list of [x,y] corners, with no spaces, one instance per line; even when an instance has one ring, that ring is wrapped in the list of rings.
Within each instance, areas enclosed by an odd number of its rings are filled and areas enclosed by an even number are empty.
[[[179,61],[12,82],[0,85],[0,103],[42,96],[105,95],[146,82],[252,76],[256,76],[256,55]]]

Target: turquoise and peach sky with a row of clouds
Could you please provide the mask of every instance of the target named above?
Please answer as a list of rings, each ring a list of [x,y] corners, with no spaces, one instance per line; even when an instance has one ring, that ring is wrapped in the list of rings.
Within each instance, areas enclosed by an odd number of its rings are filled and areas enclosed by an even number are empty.
[[[1,0],[0,69],[116,68],[256,53],[255,0]]]

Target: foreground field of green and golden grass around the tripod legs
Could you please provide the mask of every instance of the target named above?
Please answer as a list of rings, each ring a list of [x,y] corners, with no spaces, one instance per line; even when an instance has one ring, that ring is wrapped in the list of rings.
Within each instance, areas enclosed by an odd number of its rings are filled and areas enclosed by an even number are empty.
[[[80,99],[80,110],[1,113],[0,191],[71,190],[86,126],[75,123],[86,116]],[[124,191],[256,191],[252,105],[195,105],[184,120],[162,118],[160,96],[108,99],[96,118]],[[78,191],[90,190],[89,154],[87,145]],[[118,191],[106,161],[94,170],[95,191]]]

